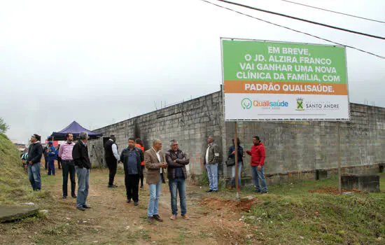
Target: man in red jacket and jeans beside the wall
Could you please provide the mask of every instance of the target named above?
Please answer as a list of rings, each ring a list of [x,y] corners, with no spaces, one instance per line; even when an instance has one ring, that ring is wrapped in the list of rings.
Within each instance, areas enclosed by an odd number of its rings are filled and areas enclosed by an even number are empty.
[[[255,188],[257,188],[255,193],[265,194],[267,193],[265,173],[263,172],[266,158],[265,146],[263,146],[258,136],[253,137],[253,144],[251,151],[246,151],[246,153],[251,155],[251,174],[253,175]],[[262,186],[262,190],[260,186]]]

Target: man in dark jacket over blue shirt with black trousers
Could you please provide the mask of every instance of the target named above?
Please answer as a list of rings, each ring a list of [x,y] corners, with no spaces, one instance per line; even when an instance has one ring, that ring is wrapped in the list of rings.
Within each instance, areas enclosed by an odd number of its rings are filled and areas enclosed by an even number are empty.
[[[135,139],[128,139],[128,147],[120,154],[120,160],[125,168],[125,186],[127,203],[134,200],[134,205],[139,205],[139,177],[141,176],[141,162],[144,160],[144,153],[135,147]]]

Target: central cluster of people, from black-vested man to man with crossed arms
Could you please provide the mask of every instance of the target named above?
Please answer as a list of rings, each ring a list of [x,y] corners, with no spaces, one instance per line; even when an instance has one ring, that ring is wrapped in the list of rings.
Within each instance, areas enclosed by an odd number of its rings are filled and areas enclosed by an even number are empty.
[[[125,188],[127,203],[134,202],[134,206],[139,204],[139,181],[141,188],[144,182],[144,168],[146,167],[146,183],[150,190],[150,200],[148,201],[148,222],[163,221],[159,215],[158,204],[162,190],[162,183],[165,178],[169,179],[169,190],[171,193],[172,216],[173,221],[178,215],[177,195],[181,206],[181,217],[189,219],[186,210],[186,165],[190,160],[186,153],[179,149],[178,141],[170,141],[170,149],[162,153],[162,141],[155,139],[153,146],[144,151],[141,139],[128,139],[128,147],[123,149],[118,155],[118,146],[116,137],[111,135],[109,141],[104,144],[106,163],[109,167],[109,188],[116,188],[113,183],[116,175],[116,168],[119,162],[123,163],[125,171]],[[167,176],[166,171],[167,169]]]

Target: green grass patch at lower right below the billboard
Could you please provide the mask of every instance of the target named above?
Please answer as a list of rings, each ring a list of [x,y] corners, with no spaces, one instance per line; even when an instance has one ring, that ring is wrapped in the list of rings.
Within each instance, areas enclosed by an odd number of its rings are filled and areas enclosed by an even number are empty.
[[[385,174],[380,176],[381,193],[309,193],[337,186],[336,178],[271,186],[245,221],[258,227],[255,235],[265,244],[379,244],[385,239]]]

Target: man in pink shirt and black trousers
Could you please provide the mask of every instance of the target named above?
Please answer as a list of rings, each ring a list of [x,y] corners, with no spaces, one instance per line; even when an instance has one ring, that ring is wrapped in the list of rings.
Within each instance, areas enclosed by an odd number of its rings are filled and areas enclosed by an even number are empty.
[[[68,174],[71,180],[71,196],[76,198],[75,195],[75,164],[72,158],[72,149],[75,146],[73,141],[73,135],[71,133],[66,134],[66,142],[60,145],[59,158],[62,158],[62,173],[63,173],[63,199],[66,199],[67,187],[68,187]]]

